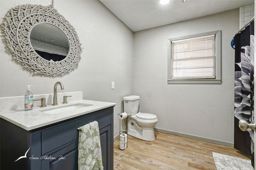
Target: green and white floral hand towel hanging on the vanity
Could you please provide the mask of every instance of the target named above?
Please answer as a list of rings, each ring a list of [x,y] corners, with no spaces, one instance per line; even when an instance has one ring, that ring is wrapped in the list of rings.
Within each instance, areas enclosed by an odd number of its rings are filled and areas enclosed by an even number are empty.
[[[78,170],[103,170],[97,121],[81,128],[78,138]]]

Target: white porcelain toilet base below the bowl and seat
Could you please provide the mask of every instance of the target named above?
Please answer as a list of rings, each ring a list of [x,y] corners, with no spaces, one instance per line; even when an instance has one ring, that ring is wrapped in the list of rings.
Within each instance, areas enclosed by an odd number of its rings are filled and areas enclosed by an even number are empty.
[[[128,121],[128,131],[127,134],[130,136],[134,136],[136,138],[146,140],[146,141],[153,141],[156,140],[154,127],[141,127],[136,123],[136,121],[129,119]]]

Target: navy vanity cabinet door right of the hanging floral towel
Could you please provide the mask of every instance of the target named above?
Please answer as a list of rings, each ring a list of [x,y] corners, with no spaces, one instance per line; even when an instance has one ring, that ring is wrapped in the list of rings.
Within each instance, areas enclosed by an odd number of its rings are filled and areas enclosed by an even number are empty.
[[[100,145],[104,170],[111,170],[111,125],[100,129]]]

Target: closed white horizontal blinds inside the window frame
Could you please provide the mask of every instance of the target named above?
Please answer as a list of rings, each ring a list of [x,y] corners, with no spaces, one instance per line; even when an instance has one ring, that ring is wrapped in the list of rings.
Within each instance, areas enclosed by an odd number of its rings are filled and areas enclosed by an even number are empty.
[[[215,34],[172,41],[172,79],[215,79],[215,44]]]

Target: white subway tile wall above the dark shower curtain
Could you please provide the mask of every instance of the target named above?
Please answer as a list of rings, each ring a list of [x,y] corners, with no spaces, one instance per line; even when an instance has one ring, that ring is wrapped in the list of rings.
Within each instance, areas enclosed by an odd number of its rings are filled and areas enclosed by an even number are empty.
[[[254,4],[240,7],[240,29],[254,17]]]

